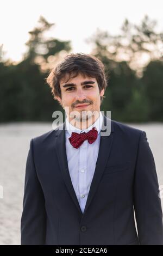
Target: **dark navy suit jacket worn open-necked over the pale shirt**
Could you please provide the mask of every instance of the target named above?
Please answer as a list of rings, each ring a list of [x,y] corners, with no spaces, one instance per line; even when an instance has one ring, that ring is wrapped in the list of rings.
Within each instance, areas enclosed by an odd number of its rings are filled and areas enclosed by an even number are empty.
[[[83,214],[68,171],[65,130],[31,139],[21,244],[163,245],[159,184],[146,132],[111,120]]]

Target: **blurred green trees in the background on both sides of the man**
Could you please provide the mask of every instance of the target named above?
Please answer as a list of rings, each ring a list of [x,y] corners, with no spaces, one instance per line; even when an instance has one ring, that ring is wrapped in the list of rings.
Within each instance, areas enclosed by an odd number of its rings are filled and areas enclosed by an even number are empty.
[[[49,64],[49,56],[61,51],[70,51],[70,41],[45,38],[45,33],[54,24],[40,17],[40,26],[29,32],[28,51],[21,63],[3,63],[0,60],[0,122],[8,121],[52,121],[52,113],[60,110],[53,99],[51,89],[45,83],[47,72],[41,65]],[[163,62],[158,51],[162,33],[154,31],[155,22],[147,16],[140,26],[133,26],[125,20],[122,34],[110,36],[99,32],[94,36],[92,53],[99,57],[108,75],[101,110],[111,111],[111,118],[118,121],[145,122],[163,121]],[[123,44],[127,39],[127,44]],[[152,45],[154,50],[148,47]],[[126,53],[128,60],[120,60],[120,53]],[[142,53],[149,54],[149,63],[142,69],[141,77],[131,63]],[[154,53],[158,53],[158,58]],[[138,55],[137,55],[138,54]],[[36,58],[42,59],[37,64]]]

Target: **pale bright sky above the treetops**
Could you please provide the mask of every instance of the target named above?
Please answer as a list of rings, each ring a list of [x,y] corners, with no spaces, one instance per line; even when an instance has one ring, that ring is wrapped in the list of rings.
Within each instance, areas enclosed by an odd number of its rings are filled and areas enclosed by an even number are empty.
[[[96,29],[117,34],[124,19],[139,24],[145,15],[158,22],[163,31],[162,0],[3,0],[0,13],[0,45],[5,58],[20,61],[26,51],[28,31],[37,25],[40,15],[55,23],[51,36],[72,41],[72,52],[90,53],[85,40]]]

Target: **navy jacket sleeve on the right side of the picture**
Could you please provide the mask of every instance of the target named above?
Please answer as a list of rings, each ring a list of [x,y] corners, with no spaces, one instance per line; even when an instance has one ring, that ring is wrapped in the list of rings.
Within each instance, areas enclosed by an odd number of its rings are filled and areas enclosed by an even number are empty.
[[[158,177],[145,131],[141,132],[137,151],[134,210],[140,245],[163,245]]]

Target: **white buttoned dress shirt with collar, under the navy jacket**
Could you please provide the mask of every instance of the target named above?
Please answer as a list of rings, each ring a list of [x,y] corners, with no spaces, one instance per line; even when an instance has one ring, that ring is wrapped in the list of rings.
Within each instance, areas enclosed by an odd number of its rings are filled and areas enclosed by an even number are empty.
[[[87,129],[80,130],[71,125],[66,118],[66,154],[68,161],[68,169],[71,176],[72,185],[82,212],[86,205],[87,196],[89,194],[92,178],[95,172],[96,161],[99,151],[99,143],[101,138],[101,129],[103,123],[103,115],[100,112],[99,118],[93,125]],[[98,136],[95,142],[90,144],[87,140],[83,142],[78,149],[74,148],[69,139],[72,132],[88,132],[96,127]]]

